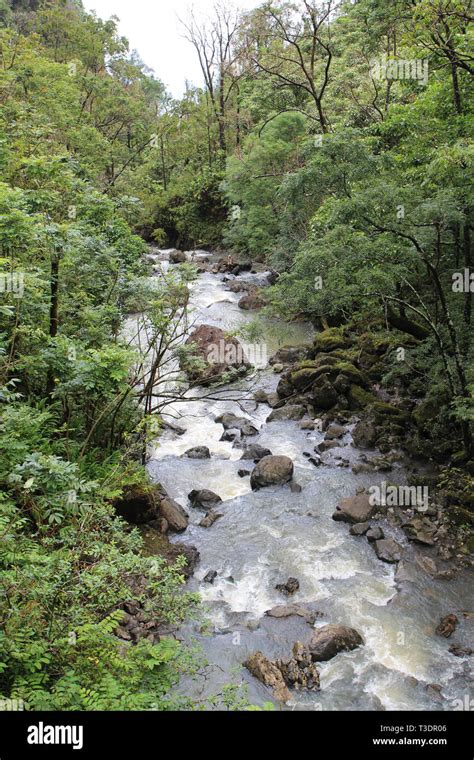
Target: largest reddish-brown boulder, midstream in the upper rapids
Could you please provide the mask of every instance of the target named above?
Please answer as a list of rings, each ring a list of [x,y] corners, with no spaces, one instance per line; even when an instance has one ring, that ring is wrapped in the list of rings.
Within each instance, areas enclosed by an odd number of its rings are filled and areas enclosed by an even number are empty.
[[[250,367],[237,338],[226,335],[219,327],[199,325],[185,345],[189,351],[180,358],[181,369],[200,385],[218,382],[231,371],[244,373]]]

